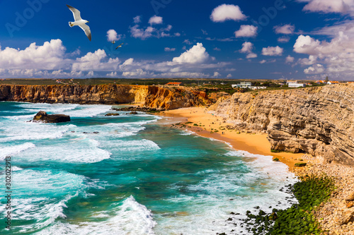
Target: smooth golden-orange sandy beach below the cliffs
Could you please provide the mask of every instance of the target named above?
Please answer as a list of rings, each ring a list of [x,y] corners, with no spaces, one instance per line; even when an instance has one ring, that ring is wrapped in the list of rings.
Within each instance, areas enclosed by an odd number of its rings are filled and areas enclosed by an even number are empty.
[[[240,133],[227,130],[224,127],[227,125],[233,126],[233,124],[225,122],[221,117],[215,116],[204,107],[174,109],[161,112],[159,115],[180,118],[181,123],[186,123],[186,127],[179,125],[176,128],[187,128],[188,131],[200,136],[227,142],[235,150],[244,150],[252,154],[270,155],[273,158],[278,158],[280,162],[287,164],[290,171],[294,168],[296,162],[300,162],[299,159],[302,159],[303,156],[302,153],[270,152],[270,143],[265,133]],[[195,126],[197,124],[198,126]],[[304,159],[301,162],[306,162],[306,160]]]

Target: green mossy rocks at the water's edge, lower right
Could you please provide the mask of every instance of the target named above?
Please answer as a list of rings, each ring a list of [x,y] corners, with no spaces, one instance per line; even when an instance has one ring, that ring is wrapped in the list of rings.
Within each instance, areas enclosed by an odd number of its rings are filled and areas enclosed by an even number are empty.
[[[258,215],[247,211],[245,224],[253,234],[322,234],[319,222],[314,217],[314,210],[322,202],[326,202],[335,190],[333,179],[327,176],[304,177],[302,181],[289,186],[298,204],[292,205],[287,210],[276,210],[265,214],[262,210]]]

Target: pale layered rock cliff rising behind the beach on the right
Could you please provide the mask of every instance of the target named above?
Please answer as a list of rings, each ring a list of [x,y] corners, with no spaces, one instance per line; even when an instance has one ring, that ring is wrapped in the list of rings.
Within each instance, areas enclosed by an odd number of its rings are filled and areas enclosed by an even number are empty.
[[[272,150],[354,165],[353,84],[235,93],[211,109],[236,128],[268,133]]]

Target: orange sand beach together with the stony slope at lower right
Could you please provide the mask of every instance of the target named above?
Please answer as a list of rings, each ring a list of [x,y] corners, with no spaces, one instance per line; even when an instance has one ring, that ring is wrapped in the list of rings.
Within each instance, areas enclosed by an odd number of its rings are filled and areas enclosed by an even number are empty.
[[[205,138],[212,138],[229,143],[235,150],[244,150],[252,154],[278,157],[280,162],[289,167],[295,176],[329,176],[334,180],[336,189],[329,200],[314,207],[311,213],[316,222],[321,224],[324,234],[353,235],[354,234],[354,168],[342,164],[329,164],[323,157],[312,157],[303,153],[270,152],[270,143],[265,133],[237,133],[234,130],[221,130],[227,123],[220,116],[214,116],[205,107],[173,109],[156,114],[173,117],[174,122],[181,121],[184,125],[172,125],[173,128],[183,128]],[[198,126],[194,126],[198,125]],[[217,132],[215,132],[217,130]],[[221,134],[220,134],[221,133]],[[298,159],[302,159],[299,161]],[[306,167],[294,167],[296,162],[306,162]],[[350,199],[348,199],[350,198]]]

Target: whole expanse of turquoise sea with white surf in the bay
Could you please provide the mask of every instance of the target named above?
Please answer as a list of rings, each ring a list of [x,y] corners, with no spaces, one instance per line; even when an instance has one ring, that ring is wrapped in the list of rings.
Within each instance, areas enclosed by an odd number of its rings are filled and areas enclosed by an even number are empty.
[[[246,234],[246,210],[290,207],[279,188],[296,180],[284,164],[171,119],[104,116],[110,108],[0,102],[4,222],[6,156],[12,166],[11,230],[1,222],[0,234]],[[72,121],[28,122],[40,110]],[[230,212],[241,215],[230,222]]]

